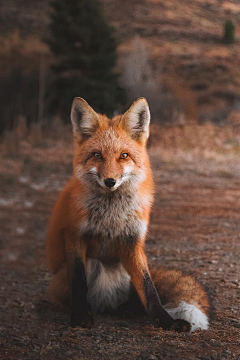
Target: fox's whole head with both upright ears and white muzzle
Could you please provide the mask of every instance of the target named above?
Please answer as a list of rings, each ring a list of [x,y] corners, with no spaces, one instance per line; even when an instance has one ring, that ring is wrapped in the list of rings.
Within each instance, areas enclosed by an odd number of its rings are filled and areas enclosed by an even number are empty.
[[[149,169],[146,142],[150,123],[145,98],[139,98],[123,115],[110,120],[77,97],[73,100],[71,121],[77,178],[104,191],[144,181]]]

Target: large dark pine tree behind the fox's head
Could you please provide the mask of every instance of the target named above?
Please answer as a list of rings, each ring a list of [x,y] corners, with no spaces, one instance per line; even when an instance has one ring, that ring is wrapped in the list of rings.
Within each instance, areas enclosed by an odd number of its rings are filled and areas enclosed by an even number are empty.
[[[112,115],[125,100],[119,86],[116,42],[98,0],[50,1],[50,34],[55,74],[47,97],[51,113],[69,116],[75,96],[98,112]]]

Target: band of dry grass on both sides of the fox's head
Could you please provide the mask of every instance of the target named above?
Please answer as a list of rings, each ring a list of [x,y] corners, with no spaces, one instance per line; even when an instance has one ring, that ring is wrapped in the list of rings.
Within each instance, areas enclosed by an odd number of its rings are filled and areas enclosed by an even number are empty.
[[[167,162],[183,160],[195,163],[207,159],[222,163],[224,167],[229,161],[236,164],[240,154],[240,127],[217,127],[210,123],[152,124],[149,153]],[[0,174],[20,176],[26,164],[35,166],[36,163],[47,164],[59,159],[68,163],[72,154],[70,126],[55,119],[51,128],[41,123],[27,129],[21,118],[15,131],[5,133],[0,142]]]

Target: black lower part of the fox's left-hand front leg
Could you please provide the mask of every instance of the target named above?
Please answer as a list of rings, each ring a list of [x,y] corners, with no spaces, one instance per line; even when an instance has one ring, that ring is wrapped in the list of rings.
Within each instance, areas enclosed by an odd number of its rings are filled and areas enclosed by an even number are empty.
[[[86,327],[91,323],[87,306],[87,281],[83,262],[74,259],[72,269],[71,326]]]

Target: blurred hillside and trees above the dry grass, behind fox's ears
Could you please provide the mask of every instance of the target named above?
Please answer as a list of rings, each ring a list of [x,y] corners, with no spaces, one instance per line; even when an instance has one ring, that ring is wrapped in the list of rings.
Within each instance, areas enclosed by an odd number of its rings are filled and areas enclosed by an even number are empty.
[[[130,11],[131,10],[131,11]],[[240,4],[2,0],[0,133],[109,116],[146,96],[157,124],[240,124]]]

